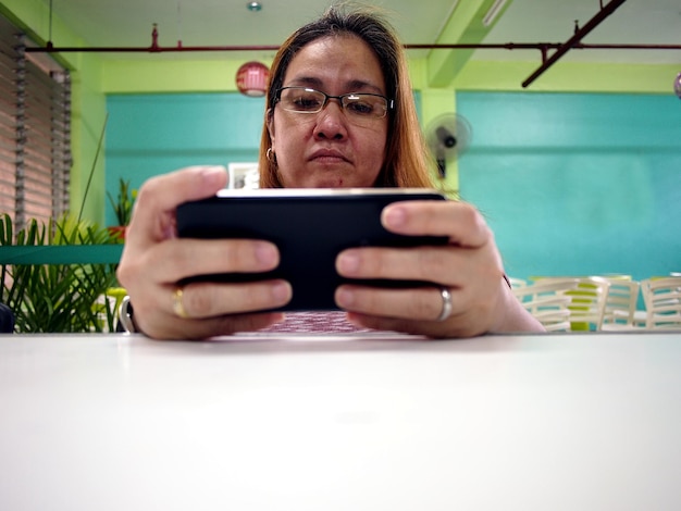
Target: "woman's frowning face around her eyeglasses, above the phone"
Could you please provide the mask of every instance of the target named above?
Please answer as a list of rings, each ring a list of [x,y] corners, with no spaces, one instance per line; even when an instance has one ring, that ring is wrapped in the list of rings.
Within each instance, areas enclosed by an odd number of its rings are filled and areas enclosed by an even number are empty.
[[[330,96],[385,96],[377,58],[355,36],[329,36],[305,46],[284,75],[284,87],[309,87]],[[389,114],[388,114],[389,115]],[[268,121],[282,185],[287,188],[371,187],[385,157],[388,115],[362,119],[329,100],[318,113],[284,110]]]

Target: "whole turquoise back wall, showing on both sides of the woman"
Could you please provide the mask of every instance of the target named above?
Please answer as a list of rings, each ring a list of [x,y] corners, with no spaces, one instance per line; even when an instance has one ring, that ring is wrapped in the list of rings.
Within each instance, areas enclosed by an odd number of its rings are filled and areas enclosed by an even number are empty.
[[[510,275],[681,271],[679,99],[460,91],[456,104],[473,128],[461,194],[485,214]],[[137,188],[186,165],[257,160],[262,98],[110,95],[107,108],[109,190],[119,177]]]

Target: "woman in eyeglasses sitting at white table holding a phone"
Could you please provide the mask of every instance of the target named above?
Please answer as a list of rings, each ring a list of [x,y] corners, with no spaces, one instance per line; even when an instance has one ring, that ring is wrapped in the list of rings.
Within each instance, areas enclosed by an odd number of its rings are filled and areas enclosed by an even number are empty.
[[[425,154],[401,45],[377,15],[332,8],[284,42],[267,96],[261,187],[432,187]],[[214,195],[226,178],[222,169],[185,169],[154,177],[139,191],[119,279],[135,306],[136,328],[150,337],[282,328],[283,314],[259,311],[290,300],[287,282],[177,285],[191,275],[263,272],[278,263],[276,247],[267,241],[176,238],[175,208]],[[338,273],[441,288],[342,285],[335,300],[347,311],[339,313],[343,324],[431,337],[543,329],[511,294],[494,237],[471,205],[401,202],[385,208],[382,223],[395,233],[447,236],[450,242],[345,250]],[[338,320],[338,313],[322,315],[326,326],[329,317]],[[320,314],[302,319],[319,323]]]

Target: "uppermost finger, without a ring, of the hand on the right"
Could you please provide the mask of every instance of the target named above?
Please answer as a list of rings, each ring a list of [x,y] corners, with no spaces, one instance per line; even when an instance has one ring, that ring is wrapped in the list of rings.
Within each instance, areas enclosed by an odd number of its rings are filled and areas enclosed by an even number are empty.
[[[394,233],[447,236],[450,244],[461,247],[481,247],[492,238],[475,208],[450,200],[395,202],[383,209],[381,222]]]

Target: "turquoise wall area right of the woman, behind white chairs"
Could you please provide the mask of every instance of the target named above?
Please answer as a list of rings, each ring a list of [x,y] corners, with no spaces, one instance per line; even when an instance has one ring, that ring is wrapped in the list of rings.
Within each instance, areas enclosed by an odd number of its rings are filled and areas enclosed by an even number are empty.
[[[461,195],[507,272],[681,271],[681,102],[654,95],[459,92]]]

